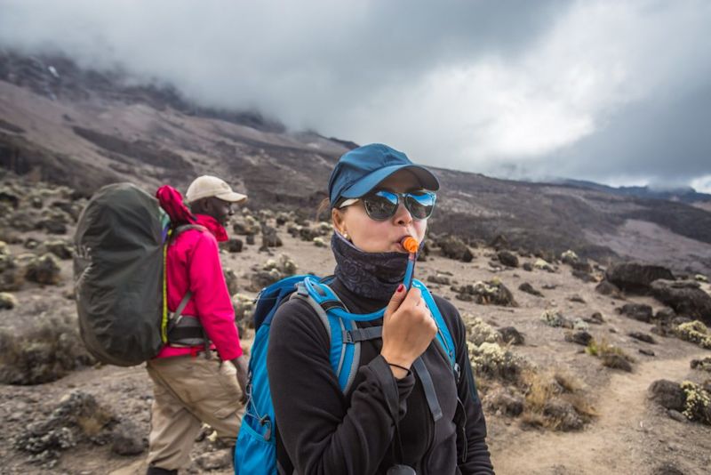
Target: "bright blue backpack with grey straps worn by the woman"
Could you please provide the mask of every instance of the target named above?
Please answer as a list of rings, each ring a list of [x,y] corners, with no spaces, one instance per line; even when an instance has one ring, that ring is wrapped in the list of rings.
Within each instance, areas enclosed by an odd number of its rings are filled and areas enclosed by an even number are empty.
[[[339,380],[340,389],[348,393],[360,365],[360,342],[380,338],[382,326],[358,328],[357,322],[382,318],[384,309],[370,314],[349,313],[339,297],[327,285],[329,278],[292,276],[268,286],[257,296],[254,308],[254,342],[250,353],[247,409],[237,437],[235,449],[235,473],[237,475],[276,475],[276,434],[274,405],[272,404],[267,374],[267,351],[269,328],[279,306],[291,298],[302,299],[311,305],[324,323],[331,339],[331,366]],[[427,286],[412,280],[419,288],[438,332],[437,347],[451,364],[452,372],[459,382],[459,365],[455,359],[454,342],[442,313]],[[427,405],[433,418],[442,417],[436,399],[434,385],[427,368],[420,358],[415,360],[413,370],[419,375],[425,388]]]

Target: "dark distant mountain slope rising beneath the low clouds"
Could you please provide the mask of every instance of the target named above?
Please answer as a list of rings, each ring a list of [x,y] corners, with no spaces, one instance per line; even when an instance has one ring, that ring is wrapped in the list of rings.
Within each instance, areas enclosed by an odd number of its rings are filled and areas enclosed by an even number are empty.
[[[286,131],[257,112],[204,109],[167,86],[137,84],[67,58],[0,52],[0,165],[82,196],[111,181],[184,189],[196,174],[216,173],[245,190],[255,209],[313,217],[335,160],[355,146]],[[502,236],[529,252],[574,249],[603,262],[621,257],[680,272],[711,270],[706,195],[672,201],[584,182],[435,170],[443,191],[432,229],[469,244]]]

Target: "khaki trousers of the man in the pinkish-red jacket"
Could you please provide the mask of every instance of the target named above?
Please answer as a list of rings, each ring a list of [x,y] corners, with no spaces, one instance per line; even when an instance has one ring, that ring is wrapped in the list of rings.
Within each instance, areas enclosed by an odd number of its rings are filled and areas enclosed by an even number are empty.
[[[229,361],[204,355],[148,361],[153,380],[148,464],[177,470],[190,462],[190,450],[202,424],[234,446],[244,407],[236,368]]]

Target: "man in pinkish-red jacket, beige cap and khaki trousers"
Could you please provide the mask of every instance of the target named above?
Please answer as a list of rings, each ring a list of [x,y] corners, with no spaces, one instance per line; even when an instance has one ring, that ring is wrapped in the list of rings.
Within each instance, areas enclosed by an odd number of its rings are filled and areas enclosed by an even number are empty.
[[[232,205],[247,197],[204,175],[190,184],[186,199],[198,226],[179,229],[172,238],[166,276],[169,310],[176,312],[184,299],[187,304],[180,323],[171,327],[169,344],[147,365],[155,397],[148,475],[176,474],[188,465],[202,423],[234,450],[244,414],[247,363],[218,242],[228,238],[224,226]]]

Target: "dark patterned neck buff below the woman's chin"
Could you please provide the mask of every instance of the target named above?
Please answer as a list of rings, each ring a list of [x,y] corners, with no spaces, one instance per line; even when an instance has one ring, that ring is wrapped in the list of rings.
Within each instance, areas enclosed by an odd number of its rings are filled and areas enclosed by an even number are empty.
[[[407,254],[366,253],[338,232],[333,233],[331,248],[336,257],[334,274],[354,294],[386,301],[403,283]]]

